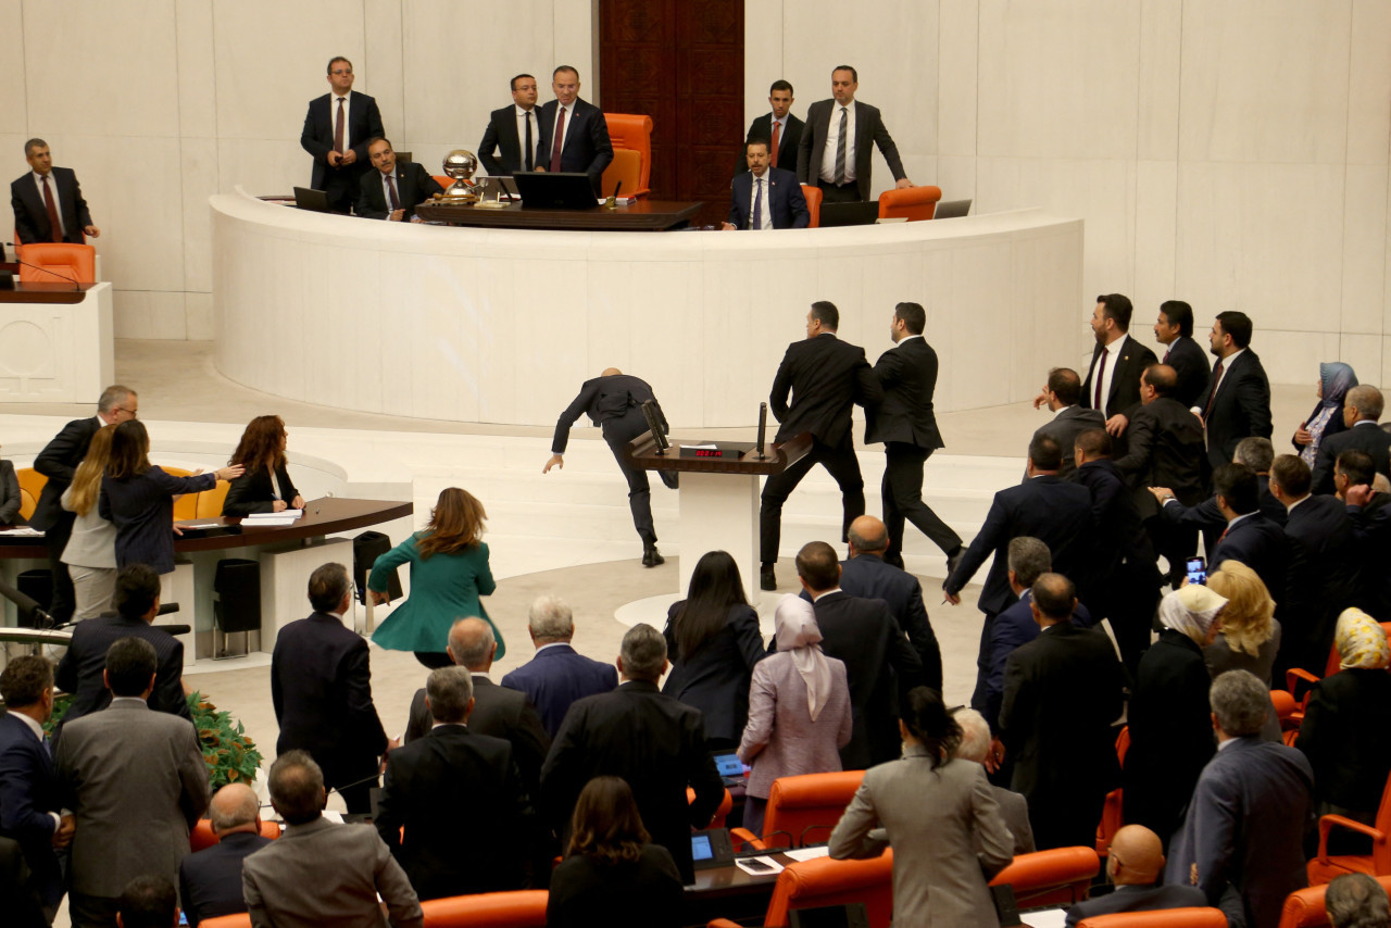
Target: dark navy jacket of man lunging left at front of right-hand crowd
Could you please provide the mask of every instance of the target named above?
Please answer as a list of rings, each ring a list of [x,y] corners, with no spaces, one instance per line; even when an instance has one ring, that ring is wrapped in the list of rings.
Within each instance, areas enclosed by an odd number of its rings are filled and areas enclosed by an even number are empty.
[[[960,593],[985,559],[995,554],[981,591],[981,611],[989,615],[1003,612],[1017,598],[1010,589],[1008,550],[1010,538],[1021,536],[1032,536],[1046,544],[1053,554],[1053,569],[1084,589],[1093,525],[1092,494],[1086,487],[1050,474],[1007,487],[995,494],[985,523],[942,589]]]

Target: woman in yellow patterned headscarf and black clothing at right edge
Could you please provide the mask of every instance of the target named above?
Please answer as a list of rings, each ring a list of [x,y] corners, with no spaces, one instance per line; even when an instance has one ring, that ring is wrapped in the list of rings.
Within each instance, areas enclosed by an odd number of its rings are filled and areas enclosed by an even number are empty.
[[[1362,609],[1344,609],[1334,633],[1341,669],[1314,685],[1295,747],[1313,767],[1320,815],[1370,825],[1391,775],[1391,648]]]

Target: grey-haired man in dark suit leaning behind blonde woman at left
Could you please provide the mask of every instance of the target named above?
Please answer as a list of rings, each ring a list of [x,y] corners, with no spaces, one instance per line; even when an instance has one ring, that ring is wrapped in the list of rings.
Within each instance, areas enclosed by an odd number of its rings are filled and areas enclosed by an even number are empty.
[[[33,469],[47,477],[39,499],[29,516],[29,527],[43,533],[43,545],[49,551],[49,570],[53,573],[53,602],[49,615],[54,625],[72,621],[77,601],[72,593],[72,577],[68,565],[63,563],[63,550],[72,537],[72,522],[77,516],[63,508],[63,491],[72,484],[78,465],[86,458],[92,435],[102,426],[115,426],[135,419],[140,409],[140,398],[135,391],[121,384],[113,384],[102,391],[96,403],[96,416],[74,419],[63,426],[63,431],[43,447],[33,459]]]

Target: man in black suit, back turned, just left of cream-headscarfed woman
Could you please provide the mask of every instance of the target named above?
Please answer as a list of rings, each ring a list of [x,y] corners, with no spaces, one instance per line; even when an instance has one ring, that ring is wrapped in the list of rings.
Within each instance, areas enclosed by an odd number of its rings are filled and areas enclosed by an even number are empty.
[[[1111,725],[1125,671],[1106,634],[1072,625],[1077,597],[1067,577],[1040,576],[1031,608],[1039,636],[1004,664],[1000,736],[1014,757],[1010,787],[1029,803],[1039,850],[1091,846],[1106,793],[1120,779]]]

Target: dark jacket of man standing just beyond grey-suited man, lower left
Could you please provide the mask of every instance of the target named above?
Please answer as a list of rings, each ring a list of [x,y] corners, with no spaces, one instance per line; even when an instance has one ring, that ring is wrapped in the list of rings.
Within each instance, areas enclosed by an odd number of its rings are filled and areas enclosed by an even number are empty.
[[[64,693],[72,693],[72,704],[63,717],[61,732],[65,732],[72,721],[99,712],[111,704],[111,690],[106,689],[102,680],[106,650],[125,637],[145,639],[154,646],[159,666],[154,671],[150,708],[193,719],[193,714],[188,710],[188,698],[184,696],[184,643],[142,619],[107,614],[72,626],[72,640],[58,661],[54,682]]]

